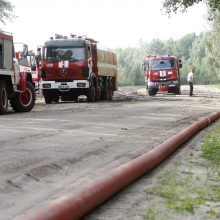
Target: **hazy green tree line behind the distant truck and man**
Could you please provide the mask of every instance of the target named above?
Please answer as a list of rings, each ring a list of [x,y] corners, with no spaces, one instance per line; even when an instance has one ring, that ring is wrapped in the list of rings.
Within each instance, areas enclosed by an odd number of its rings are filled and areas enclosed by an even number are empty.
[[[186,76],[192,68],[196,71],[197,84],[220,82],[217,57],[220,51],[213,46],[217,36],[214,33],[187,34],[179,40],[153,39],[139,40],[137,47],[117,48],[119,85],[143,85],[144,71],[141,63],[147,55],[174,55],[182,60],[181,83],[186,84]],[[220,37],[220,36],[219,36]]]

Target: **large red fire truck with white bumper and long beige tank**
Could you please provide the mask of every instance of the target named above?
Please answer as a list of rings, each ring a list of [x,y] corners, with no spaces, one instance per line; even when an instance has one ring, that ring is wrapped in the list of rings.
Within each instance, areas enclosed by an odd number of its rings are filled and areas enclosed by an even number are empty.
[[[47,104],[74,101],[80,95],[88,101],[111,100],[118,89],[116,54],[97,48],[97,41],[91,38],[56,35],[38,52]]]

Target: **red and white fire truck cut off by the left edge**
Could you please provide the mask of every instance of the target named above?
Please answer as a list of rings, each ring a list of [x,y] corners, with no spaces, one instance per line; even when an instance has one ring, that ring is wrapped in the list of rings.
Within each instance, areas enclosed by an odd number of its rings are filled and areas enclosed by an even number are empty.
[[[19,59],[15,58],[13,36],[0,31],[0,114],[8,111],[8,101],[16,112],[31,111],[35,92],[27,60],[28,47],[23,45]]]

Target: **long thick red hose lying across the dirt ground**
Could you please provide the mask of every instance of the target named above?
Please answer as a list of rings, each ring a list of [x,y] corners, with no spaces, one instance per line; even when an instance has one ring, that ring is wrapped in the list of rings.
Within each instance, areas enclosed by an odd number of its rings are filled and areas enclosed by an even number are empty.
[[[220,112],[195,122],[178,134],[169,138],[151,151],[135,158],[77,192],[68,194],[55,201],[18,216],[16,220],[75,220],[87,214],[93,208],[109,199],[128,184],[146,174],[161,163],[180,145],[194,134],[220,117]]]

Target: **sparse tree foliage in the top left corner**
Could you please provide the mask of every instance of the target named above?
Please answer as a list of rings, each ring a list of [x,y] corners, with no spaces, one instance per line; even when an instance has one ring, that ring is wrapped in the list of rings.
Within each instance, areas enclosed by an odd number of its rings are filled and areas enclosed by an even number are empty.
[[[0,22],[5,24],[5,20],[11,20],[14,6],[7,0],[0,0]]]

